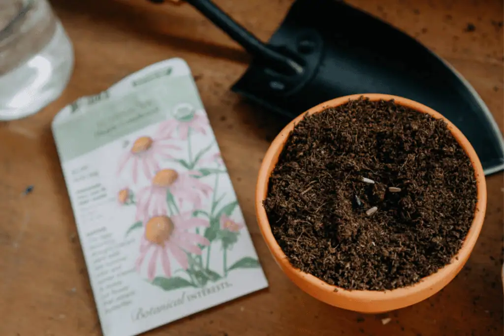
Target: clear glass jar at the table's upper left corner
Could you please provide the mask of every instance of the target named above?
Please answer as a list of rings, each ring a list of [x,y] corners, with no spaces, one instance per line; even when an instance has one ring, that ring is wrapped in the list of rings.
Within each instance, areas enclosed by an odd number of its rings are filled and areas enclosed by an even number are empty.
[[[0,0],[0,120],[58,98],[73,65],[72,43],[47,0]]]

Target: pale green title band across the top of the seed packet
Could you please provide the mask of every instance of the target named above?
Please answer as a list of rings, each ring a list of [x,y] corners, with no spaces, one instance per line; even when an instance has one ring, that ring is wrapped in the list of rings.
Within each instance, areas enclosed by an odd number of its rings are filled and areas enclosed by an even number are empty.
[[[197,108],[203,107],[195,95],[197,89],[191,77],[152,79],[136,85],[138,90],[129,95],[112,98],[101,95],[99,104],[88,104],[85,113],[56,125],[53,133],[60,160],[67,162],[135,130],[160,122],[180,100]],[[160,81],[164,81],[162,86]]]

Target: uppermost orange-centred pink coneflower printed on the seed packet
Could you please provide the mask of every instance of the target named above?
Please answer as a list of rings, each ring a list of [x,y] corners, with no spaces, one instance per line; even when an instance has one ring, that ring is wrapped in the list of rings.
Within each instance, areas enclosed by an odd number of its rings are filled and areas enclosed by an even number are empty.
[[[151,179],[154,172],[159,170],[159,159],[172,159],[172,151],[180,150],[179,147],[166,143],[169,140],[172,140],[171,134],[161,126],[153,138],[148,136],[138,138],[131,149],[120,158],[117,174],[131,161],[135,184],[138,180],[139,169],[147,179]]]

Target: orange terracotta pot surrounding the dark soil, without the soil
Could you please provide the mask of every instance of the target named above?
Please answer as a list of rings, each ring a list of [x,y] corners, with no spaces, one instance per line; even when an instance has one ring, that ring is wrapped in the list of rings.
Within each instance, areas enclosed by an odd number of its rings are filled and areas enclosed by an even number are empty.
[[[336,98],[317,105],[309,109],[307,112],[309,114],[318,113],[328,107],[342,105],[348,102],[349,99],[358,99],[360,96],[368,97],[371,101],[380,99],[394,99],[397,104],[410,107],[414,110],[419,111],[420,113],[428,113],[437,119],[444,118],[440,113],[418,102],[401,97],[382,94],[361,94]],[[483,168],[481,167],[481,163],[478,159],[478,156],[476,155],[476,152],[474,151],[466,137],[464,137],[462,132],[457,127],[455,127],[454,124],[447,120],[448,128],[452,132],[455,139],[457,139],[458,143],[462,146],[464,151],[467,153],[467,155],[470,157],[474,170],[476,172],[477,180],[477,210],[474,215],[472,226],[467,233],[467,237],[462,244],[462,248],[459,250],[458,254],[452,259],[452,262],[450,264],[441,268],[435,274],[423,278],[419,283],[415,285],[383,292],[358,290],[349,291],[338,288],[336,286],[331,286],[310,274],[301,272],[298,269],[292,267],[271,232],[268,217],[263,207],[263,200],[266,198],[268,192],[268,183],[271,172],[273,171],[278,161],[278,156],[280,155],[284,147],[284,144],[289,136],[289,132],[294,128],[294,124],[299,122],[303,118],[303,115],[304,113],[299,115],[287,126],[285,126],[285,128],[280,132],[280,134],[271,144],[261,165],[256,187],[256,214],[259,222],[259,227],[261,229],[264,240],[266,241],[266,244],[270,249],[270,252],[273,254],[273,257],[275,258],[280,268],[282,268],[282,271],[300,289],[302,289],[312,297],[336,307],[364,313],[380,313],[403,308],[425,300],[426,298],[430,297],[431,295],[435,294],[443,287],[448,285],[448,283],[452,281],[453,278],[455,278],[455,276],[460,272],[467,259],[469,258],[469,254],[471,253],[481,231],[486,211],[487,195]]]

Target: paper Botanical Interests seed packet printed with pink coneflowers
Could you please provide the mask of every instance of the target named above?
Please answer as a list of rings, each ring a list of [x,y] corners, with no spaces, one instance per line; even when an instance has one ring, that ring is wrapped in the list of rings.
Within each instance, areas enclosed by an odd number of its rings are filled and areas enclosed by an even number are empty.
[[[52,131],[104,336],[268,286],[184,60],[77,100]]]

